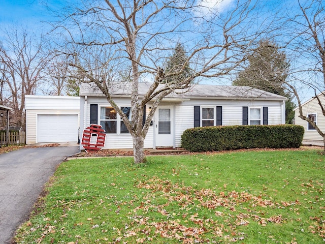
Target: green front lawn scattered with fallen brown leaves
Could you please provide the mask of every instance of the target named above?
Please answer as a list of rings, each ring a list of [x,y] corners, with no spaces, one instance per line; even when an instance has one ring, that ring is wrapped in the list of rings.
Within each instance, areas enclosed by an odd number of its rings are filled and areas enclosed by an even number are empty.
[[[62,163],[17,243],[324,243],[315,150]]]

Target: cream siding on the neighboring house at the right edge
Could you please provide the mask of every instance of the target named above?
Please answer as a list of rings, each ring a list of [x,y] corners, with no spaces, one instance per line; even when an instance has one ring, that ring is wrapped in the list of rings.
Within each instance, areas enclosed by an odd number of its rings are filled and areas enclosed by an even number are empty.
[[[322,101],[323,103],[325,101]],[[325,131],[325,117],[322,115],[321,108],[316,99],[312,99],[302,106],[303,115],[315,113],[317,115],[317,126],[321,131]],[[323,138],[318,134],[316,130],[308,130],[308,123],[299,117],[299,109],[295,111],[295,124],[303,126],[305,128],[304,140],[323,140]]]

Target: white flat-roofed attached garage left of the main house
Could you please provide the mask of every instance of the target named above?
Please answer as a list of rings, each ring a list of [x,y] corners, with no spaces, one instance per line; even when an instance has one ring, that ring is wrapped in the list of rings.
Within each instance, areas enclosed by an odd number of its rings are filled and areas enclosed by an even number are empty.
[[[26,144],[78,142],[80,98],[25,96]]]

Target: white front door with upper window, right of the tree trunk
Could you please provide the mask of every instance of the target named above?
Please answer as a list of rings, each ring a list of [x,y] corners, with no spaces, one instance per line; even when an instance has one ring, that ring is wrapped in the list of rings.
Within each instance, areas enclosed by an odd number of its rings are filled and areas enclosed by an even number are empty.
[[[174,116],[173,107],[159,106],[155,119],[156,147],[174,146]]]

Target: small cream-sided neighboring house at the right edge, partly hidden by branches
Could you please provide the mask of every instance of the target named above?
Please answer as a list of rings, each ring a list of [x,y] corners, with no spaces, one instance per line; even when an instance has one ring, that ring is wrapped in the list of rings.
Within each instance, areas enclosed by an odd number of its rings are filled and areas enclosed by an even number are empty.
[[[325,104],[323,96],[319,97],[322,104]],[[312,119],[322,132],[325,132],[325,117],[322,115],[321,108],[316,98],[311,98],[302,105],[303,115]],[[315,128],[306,120],[299,117],[299,107],[295,111],[295,124],[305,128],[303,144],[324,145],[323,138],[318,134]]]

